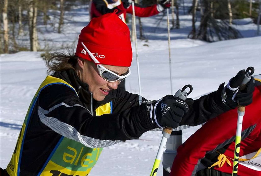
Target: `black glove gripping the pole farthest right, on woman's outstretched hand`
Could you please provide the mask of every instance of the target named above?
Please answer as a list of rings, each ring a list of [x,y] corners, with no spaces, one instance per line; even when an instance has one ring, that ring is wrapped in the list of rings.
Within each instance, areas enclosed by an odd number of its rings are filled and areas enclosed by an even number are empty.
[[[244,90],[239,90],[245,76],[245,70],[240,70],[235,77],[231,78],[222,90],[222,101],[230,108],[234,109],[237,104],[247,106],[252,103],[254,92],[254,78],[251,76]]]

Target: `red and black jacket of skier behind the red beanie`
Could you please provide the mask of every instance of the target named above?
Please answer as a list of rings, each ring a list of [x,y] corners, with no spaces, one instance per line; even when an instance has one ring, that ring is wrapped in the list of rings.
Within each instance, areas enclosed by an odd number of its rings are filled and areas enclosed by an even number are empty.
[[[92,0],[90,3],[90,17],[91,19],[94,17],[102,16],[106,13],[112,13],[117,10],[116,14],[121,18],[122,21],[126,23],[126,13],[132,14],[132,5],[125,9],[121,0],[118,0],[115,3],[109,3],[106,0]],[[134,5],[135,15],[140,17],[148,17],[153,16],[161,12],[163,10],[161,8],[157,8],[157,4],[149,6],[149,7],[141,7],[139,4]]]

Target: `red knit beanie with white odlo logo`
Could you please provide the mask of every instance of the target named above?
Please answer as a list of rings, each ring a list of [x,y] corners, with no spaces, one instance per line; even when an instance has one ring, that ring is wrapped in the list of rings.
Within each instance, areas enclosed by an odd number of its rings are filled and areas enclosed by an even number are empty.
[[[101,64],[131,66],[130,30],[115,13],[93,18],[81,30],[75,55],[93,62],[81,42]]]

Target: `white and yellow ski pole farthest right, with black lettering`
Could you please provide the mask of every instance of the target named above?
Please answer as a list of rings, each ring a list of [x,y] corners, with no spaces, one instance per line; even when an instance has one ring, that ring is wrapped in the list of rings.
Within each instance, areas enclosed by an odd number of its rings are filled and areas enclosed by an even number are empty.
[[[240,86],[240,90],[244,90],[246,84],[250,81],[251,76],[254,73],[254,67],[248,67],[245,72],[245,77]],[[236,141],[235,141],[235,152],[234,152],[234,161],[233,161],[233,173],[232,176],[237,176],[238,170],[238,160],[239,160],[239,152],[240,152],[240,142],[241,142],[241,132],[242,132],[242,123],[243,116],[245,115],[245,106],[241,106],[238,104],[237,107],[237,126],[236,126]]]

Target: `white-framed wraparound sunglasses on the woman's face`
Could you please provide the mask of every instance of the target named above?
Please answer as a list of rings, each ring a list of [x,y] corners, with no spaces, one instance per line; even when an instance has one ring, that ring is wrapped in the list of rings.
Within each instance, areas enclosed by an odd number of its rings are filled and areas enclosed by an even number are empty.
[[[109,81],[109,82],[119,81],[119,82],[121,82],[131,74],[131,70],[130,70],[129,67],[128,67],[128,71],[122,76],[119,76],[116,73],[108,70],[107,68],[103,67],[102,64],[99,63],[99,61],[94,57],[94,55],[89,51],[89,49],[83,44],[83,42],[81,42],[81,44],[83,45],[84,49],[87,51],[89,56],[92,58],[94,63],[97,65],[98,72],[99,72],[100,76],[103,79],[105,79],[106,81]]]

